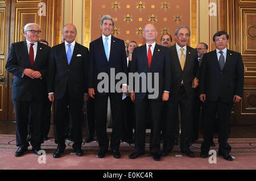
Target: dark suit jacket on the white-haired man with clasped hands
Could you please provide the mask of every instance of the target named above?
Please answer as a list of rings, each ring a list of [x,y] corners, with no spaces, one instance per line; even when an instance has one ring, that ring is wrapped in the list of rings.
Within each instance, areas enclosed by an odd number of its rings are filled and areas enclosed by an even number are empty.
[[[46,100],[47,99],[47,73],[51,48],[38,43],[34,66],[28,58],[27,43],[20,41],[11,44],[6,62],[6,69],[14,75],[11,99],[15,101]],[[40,71],[42,78],[31,79],[24,75],[24,69]]]

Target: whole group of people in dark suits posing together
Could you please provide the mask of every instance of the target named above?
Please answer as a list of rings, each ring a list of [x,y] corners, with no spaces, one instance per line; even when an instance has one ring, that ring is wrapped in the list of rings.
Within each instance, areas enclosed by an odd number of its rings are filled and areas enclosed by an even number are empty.
[[[90,43],[89,50],[75,41],[77,30],[73,24],[63,27],[64,42],[52,48],[39,42],[40,27],[35,23],[28,23],[24,27],[25,41],[11,44],[6,69],[14,75],[12,100],[18,146],[15,156],[23,155],[30,146],[27,141],[28,120],[31,125],[32,151],[40,155],[40,146],[46,137],[43,133],[46,127],[46,107],[51,105],[48,98],[55,106],[57,149],[53,153],[54,158],[59,158],[66,147],[67,117],[72,123],[73,149],[77,156],[83,155],[82,106],[85,101],[90,105],[88,108],[92,109],[90,112],[94,112],[88,116],[95,119],[95,125],[88,122],[88,125],[92,124],[90,127],[93,127],[93,131],[88,130],[86,142],[92,141],[95,127],[100,146],[97,157],[105,157],[110,142],[113,157],[120,158],[119,145],[121,137],[125,137],[122,99],[123,93],[129,92],[134,102],[131,102],[134,104],[133,109],[130,109],[131,114],[135,110],[135,146],[129,155],[130,159],[145,153],[148,120],[152,158],[160,161],[161,157],[168,155],[177,145],[179,112],[180,150],[188,157],[195,157],[190,145],[198,138],[197,120],[203,105],[204,141],[200,157],[208,157],[217,113],[218,154],[232,161],[228,144],[229,118],[233,103],[239,102],[242,97],[243,63],[240,53],[227,49],[228,33],[217,32],[213,36],[216,50],[207,53],[207,44],[199,43],[196,49],[188,46],[191,32],[187,26],[176,29],[174,45],[170,35],[161,37],[162,45],[156,44],[158,32],[154,24],[148,23],[143,31],[146,44],[141,47],[134,45],[133,53],[129,56],[126,54],[125,42],[112,35],[114,20],[111,16],[101,18],[100,28],[102,36]],[[139,89],[134,89],[134,86],[128,85],[127,79],[123,79],[119,87],[122,91],[111,91],[111,84],[104,87],[105,91],[100,91],[98,85],[101,79],[98,75],[106,73],[110,77],[111,69],[115,70],[115,75],[145,73],[146,85],[158,85],[157,96],[152,98],[152,92],[147,86],[146,91],[142,91],[143,82],[139,81]],[[148,73],[152,73],[152,77]],[[155,79],[156,82],[153,81]],[[115,84],[118,81],[115,80]],[[110,141],[106,132],[108,99],[113,117]]]

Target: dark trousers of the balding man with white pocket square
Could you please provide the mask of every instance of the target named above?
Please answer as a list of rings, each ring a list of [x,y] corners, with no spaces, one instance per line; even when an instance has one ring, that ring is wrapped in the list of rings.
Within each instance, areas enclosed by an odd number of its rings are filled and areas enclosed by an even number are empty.
[[[82,96],[80,100],[73,100],[68,90],[62,99],[55,99],[55,131],[57,139],[55,143],[58,145],[65,145],[65,129],[68,112],[72,120],[73,141],[75,146],[82,145]]]

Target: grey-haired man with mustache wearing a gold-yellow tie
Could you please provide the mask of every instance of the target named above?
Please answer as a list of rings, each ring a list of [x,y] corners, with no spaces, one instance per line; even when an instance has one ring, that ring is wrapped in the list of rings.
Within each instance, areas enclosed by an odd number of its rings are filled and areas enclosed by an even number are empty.
[[[199,65],[196,49],[187,45],[191,33],[187,26],[180,26],[175,31],[176,44],[171,51],[171,91],[167,102],[166,125],[164,126],[164,144],[162,155],[166,156],[174,147],[175,117],[180,107],[181,135],[180,150],[188,157],[195,157],[189,149],[192,136],[192,104],[195,88],[199,85]]]

